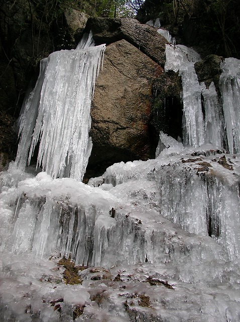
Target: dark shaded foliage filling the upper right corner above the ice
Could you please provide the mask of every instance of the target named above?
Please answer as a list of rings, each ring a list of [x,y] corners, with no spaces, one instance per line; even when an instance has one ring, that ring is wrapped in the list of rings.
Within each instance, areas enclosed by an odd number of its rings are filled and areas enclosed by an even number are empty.
[[[238,0],[146,0],[137,19],[160,18],[162,26],[202,55],[240,58]]]

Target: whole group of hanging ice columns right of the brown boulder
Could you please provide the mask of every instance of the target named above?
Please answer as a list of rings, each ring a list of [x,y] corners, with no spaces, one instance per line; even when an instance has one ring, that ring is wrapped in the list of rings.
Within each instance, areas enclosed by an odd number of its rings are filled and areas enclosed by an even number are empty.
[[[183,144],[199,146],[211,143],[238,153],[240,61],[226,58],[219,79],[221,100],[213,83],[199,84],[194,63],[200,56],[183,45],[166,45],[165,70],[179,71],[183,83]],[[205,115],[202,113],[202,105]]]

